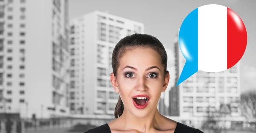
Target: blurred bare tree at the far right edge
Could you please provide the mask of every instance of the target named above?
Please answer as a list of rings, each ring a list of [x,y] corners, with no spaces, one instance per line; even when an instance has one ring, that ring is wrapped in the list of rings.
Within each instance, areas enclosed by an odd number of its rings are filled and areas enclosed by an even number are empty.
[[[256,132],[256,90],[249,90],[241,94],[240,107],[242,116]]]

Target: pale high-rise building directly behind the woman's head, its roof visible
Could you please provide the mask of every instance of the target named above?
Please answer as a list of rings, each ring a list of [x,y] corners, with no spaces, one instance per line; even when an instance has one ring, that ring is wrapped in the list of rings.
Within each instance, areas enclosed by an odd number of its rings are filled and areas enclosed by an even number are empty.
[[[125,36],[144,33],[144,25],[94,11],[74,18],[70,29],[70,111],[113,115],[119,98],[110,82],[113,49]]]

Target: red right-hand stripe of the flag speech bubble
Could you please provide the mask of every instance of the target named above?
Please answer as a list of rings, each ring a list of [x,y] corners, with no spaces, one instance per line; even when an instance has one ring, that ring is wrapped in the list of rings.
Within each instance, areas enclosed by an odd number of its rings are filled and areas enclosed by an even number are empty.
[[[241,18],[227,8],[227,69],[233,67],[244,55],[247,32]]]

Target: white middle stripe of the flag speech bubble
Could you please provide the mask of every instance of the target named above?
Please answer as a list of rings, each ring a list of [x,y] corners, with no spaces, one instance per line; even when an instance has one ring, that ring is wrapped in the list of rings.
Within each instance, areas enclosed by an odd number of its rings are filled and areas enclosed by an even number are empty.
[[[220,72],[227,69],[227,7],[198,8],[198,70]]]

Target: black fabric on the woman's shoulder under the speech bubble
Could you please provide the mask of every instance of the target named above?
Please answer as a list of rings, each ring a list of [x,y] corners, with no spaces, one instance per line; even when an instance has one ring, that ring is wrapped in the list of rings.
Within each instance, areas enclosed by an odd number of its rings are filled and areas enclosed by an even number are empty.
[[[199,129],[189,127],[185,124],[178,122],[174,133],[204,133],[204,132],[202,132]]]

